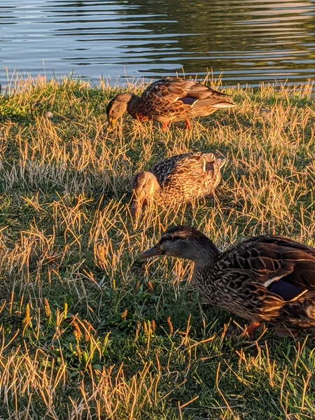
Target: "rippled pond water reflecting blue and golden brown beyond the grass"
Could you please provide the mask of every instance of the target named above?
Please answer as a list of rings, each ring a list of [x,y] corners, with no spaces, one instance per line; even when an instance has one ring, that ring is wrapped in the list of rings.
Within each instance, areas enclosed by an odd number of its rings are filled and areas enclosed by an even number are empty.
[[[223,83],[314,77],[315,0],[1,0],[0,83],[223,72]],[[8,73],[7,73],[7,71]]]

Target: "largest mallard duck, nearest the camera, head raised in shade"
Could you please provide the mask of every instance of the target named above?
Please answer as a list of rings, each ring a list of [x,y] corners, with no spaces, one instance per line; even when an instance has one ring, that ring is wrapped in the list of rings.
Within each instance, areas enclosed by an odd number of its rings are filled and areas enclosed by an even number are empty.
[[[171,255],[195,263],[193,283],[203,300],[251,321],[315,327],[315,249],[276,235],[246,239],[220,251],[189,226],[168,229],[142,258]]]

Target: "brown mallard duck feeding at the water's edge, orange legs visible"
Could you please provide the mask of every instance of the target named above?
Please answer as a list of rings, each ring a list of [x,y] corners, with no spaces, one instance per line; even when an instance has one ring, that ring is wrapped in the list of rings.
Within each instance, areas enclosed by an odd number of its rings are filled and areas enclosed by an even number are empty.
[[[217,92],[193,80],[165,78],[149,85],[141,94],[122,93],[111,99],[106,113],[109,127],[127,111],[132,118],[141,122],[160,121],[163,130],[173,121],[186,121],[189,118],[205,117],[217,109],[236,106],[225,93]]]

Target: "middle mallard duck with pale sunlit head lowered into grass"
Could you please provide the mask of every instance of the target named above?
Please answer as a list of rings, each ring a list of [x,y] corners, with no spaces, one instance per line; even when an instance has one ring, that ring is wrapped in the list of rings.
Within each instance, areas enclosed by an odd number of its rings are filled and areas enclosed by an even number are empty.
[[[190,202],[207,197],[221,181],[224,158],[215,153],[184,153],[161,160],[149,172],[134,176],[132,216],[137,216],[144,204]]]

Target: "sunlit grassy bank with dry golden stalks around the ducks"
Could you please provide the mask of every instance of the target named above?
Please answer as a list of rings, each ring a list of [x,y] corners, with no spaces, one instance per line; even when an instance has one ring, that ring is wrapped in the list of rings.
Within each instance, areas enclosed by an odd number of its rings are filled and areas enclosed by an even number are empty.
[[[313,419],[314,331],[228,339],[244,321],[201,304],[187,261],[138,256],[180,223],[223,249],[315,246],[311,86],[226,90],[237,108],[191,132],[108,132],[118,87],[18,88],[0,99],[0,419]],[[188,150],[228,158],[215,197],[132,223],[132,174]]]

